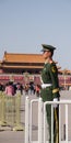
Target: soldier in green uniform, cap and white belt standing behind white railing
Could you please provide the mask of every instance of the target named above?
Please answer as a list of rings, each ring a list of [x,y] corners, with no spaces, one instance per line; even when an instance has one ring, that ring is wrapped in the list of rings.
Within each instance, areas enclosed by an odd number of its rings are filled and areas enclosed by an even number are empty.
[[[42,72],[42,98],[43,101],[58,101],[59,100],[59,82],[58,69],[52,61],[54,51],[56,47],[43,44],[43,56],[45,58],[44,69]],[[51,143],[51,106],[46,106],[47,121],[49,125],[49,143]],[[59,107],[54,105],[54,143],[59,143]]]

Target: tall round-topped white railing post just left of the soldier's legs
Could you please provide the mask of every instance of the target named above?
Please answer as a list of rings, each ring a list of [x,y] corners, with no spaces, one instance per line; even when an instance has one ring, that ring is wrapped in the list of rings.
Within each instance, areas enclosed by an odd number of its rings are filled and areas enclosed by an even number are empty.
[[[38,143],[43,142],[43,100],[38,100]]]

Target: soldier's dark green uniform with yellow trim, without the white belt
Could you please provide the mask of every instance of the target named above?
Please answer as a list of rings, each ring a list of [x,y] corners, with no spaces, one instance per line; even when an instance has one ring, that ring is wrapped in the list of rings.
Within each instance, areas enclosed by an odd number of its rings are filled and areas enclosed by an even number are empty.
[[[47,48],[46,48],[47,47]],[[54,51],[55,48],[46,45],[46,50],[51,50]],[[43,101],[52,101],[54,98],[59,99],[59,82],[58,82],[58,69],[57,66],[54,62],[51,63],[45,63],[44,69],[42,72],[42,80],[44,85],[50,85],[46,86],[46,88],[42,88],[42,98]],[[47,121],[49,124],[49,142],[51,143],[51,106],[47,105],[46,106],[46,111],[47,111]],[[58,107],[54,111],[54,143],[59,142],[59,118],[58,118]]]

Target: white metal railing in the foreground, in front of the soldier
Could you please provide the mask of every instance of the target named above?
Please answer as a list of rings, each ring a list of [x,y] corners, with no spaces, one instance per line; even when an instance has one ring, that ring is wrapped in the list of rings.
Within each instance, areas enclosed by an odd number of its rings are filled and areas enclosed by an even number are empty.
[[[38,139],[37,141],[32,141],[32,127],[33,127],[33,103],[38,103]],[[59,105],[59,143],[61,143],[61,105],[66,107],[66,139],[64,142],[68,143],[68,106],[71,105],[71,100],[61,101],[46,101],[43,102],[42,98],[33,99],[29,101],[28,97],[25,99],[25,143],[47,143],[47,125],[46,125],[46,105],[51,105],[51,143],[54,143],[54,105]],[[37,108],[37,107],[36,107]],[[35,117],[34,117],[35,118]]]

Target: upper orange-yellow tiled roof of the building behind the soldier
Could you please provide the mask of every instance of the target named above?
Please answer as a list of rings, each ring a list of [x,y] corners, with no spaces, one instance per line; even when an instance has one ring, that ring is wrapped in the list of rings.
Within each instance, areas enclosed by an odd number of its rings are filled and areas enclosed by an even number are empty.
[[[4,53],[4,62],[9,63],[44,63],[42,54],[13,54]]]

